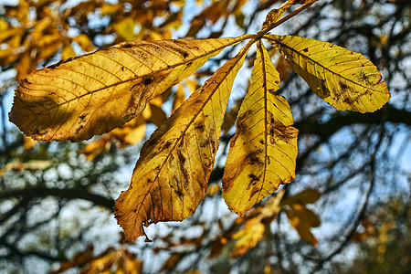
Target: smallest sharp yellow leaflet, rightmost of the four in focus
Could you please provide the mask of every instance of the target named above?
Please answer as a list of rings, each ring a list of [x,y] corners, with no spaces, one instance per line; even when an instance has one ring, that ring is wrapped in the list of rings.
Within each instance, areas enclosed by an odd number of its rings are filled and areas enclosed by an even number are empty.
[[[376,111],[390,98],[381,73],[359,53],[306,37],[265,37],[311,90],[337,110]]]

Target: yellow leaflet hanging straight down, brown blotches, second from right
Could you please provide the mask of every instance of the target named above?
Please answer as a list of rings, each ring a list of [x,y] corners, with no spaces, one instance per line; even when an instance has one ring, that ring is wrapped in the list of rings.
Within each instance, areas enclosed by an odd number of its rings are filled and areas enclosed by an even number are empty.
[[[223,197],[239,216],[295,177],[297,129],[279,90],[279,72],[258,42],[251,84],[237,117],[223,175]]]

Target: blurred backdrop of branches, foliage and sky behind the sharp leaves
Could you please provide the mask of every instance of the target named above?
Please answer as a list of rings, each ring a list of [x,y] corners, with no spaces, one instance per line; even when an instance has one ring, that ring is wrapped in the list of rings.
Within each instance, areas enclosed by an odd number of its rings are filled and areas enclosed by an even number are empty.
[[[391,100],[380,111],[336,111],[276,49],[299,129],[296,179],[230,213],[221,177],[253,62],[235,82],[205,200],[182,223],[124,243],[112,215],[142,142],[236,48],[88,142],[34,142],[7,120],[19,79],[61,58],[136,39],[227,37],[258,31],[275,0],[0,1],[0,269],[5,273],[410,273],[411,4],[320,0],[272,31],[363,53]],[[247,65],[248,64],[248,65]],[[3,270],[2,270],[3,271]],[[122,272],[121,272],[122,271]]]

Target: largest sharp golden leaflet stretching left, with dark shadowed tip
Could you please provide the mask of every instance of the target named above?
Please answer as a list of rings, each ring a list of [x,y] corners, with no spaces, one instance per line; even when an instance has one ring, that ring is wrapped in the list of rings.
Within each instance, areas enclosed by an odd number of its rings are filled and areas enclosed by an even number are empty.
[[[79,142],[110,132],[248,37],[127,42],[62,60],[20,81],[10,121],[37,141]]]

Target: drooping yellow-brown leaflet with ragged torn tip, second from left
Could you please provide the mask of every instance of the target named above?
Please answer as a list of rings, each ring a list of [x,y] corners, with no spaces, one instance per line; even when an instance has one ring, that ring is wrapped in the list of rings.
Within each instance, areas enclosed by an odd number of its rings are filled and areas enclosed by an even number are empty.
[[[116,200],[125,239],[145,236],[142,225],[181,221],[195,212],[213,170],[233,81],[250,43],[216,70],[145,142],[132,182]]]

